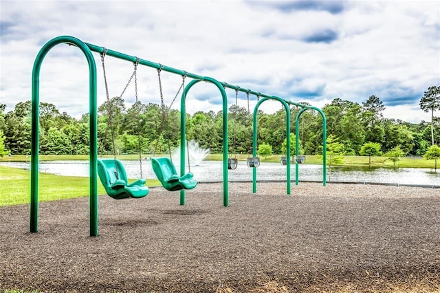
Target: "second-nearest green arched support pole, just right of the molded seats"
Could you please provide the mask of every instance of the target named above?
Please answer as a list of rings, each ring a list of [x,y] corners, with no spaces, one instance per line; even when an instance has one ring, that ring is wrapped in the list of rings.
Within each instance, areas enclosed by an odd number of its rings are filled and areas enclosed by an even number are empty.
[[[190,88],[199,83],[201,80],[192,80],[186,85],[184,92],[181,95],[180,103],[180,173],[185,174],[185,155],[186,155],[186,95]],[[203,81],[214,84],[221,92],[221,99],[223,101],[223,206],[229,205],[228,195],[228,96],[226,95],[224,85],[219,81],[210,77],[203,77]],[[180,191],[180,204],[185,204],[185,190]]]

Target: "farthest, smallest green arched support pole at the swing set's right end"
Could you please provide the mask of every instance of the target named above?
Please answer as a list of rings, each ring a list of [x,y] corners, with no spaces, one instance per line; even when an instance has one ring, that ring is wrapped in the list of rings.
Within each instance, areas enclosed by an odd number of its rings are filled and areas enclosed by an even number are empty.
[[[292,102],[288,102],[292,103]],[[299,149],[300,149],[300,116],[307,110],[316,110],[318,111],[322,116],[322,185],[327,184],[327,119],[325,118],[324,112],[322,112],[321,109],[316,107],[303,107],[298,114],[296,115],[295,119],[295,136],[296,136],[296,145],[295,145],[295,154],[296,158],[298,158],[299,155]],[[295,184],[298,185],[299,182],[299,164],[298,161],[295,160]]]

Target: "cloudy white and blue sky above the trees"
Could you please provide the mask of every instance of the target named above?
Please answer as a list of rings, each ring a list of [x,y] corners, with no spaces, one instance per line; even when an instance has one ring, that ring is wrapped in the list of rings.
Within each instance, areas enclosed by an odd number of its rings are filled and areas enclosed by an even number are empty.
[[[366,102],[375,95],[384,117],[430,121],[419,101],[440,85],[440,1],[7,1],[0,0],[0,103],[6,112],[31,100],[32,67],[41,47],[74,36],[146,61],[220,82],[324,107],[334,98]],[[102,63],[94,53],[98,105],[106,100]],[[133,63],[104,60],[109,95],[119,96]],[[162,72],[170,105],[181,76]],[[186,78],[186,83],[190,78]],[[228,107],[236,102],[226,89]],[[157,70],[137,68],[137,98],[160,103]],[[122,96],[135,102],[132,82]],[[237,104],[248,108],[240,92]],[[40,101],[80,118],[89,111],[89,68],[74,46],[56,45],[40,72]],[[250,111],[256,96],[249,97]],[[180,109],[180,98],[173,103]],[[186,111],[220,111],[219,90],[197,83]],[[260,109],[273,113],[279,102]],[[434,113],[440,116],[440,112]]]

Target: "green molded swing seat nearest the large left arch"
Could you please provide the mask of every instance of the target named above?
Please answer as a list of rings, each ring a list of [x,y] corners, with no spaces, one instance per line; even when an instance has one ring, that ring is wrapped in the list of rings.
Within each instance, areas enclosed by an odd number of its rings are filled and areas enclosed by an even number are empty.
[[[145,180],[129,184],[122,162],[117,159],[98,159],[98,176],[107,192],[114,199],[141,198],[148,194]]]

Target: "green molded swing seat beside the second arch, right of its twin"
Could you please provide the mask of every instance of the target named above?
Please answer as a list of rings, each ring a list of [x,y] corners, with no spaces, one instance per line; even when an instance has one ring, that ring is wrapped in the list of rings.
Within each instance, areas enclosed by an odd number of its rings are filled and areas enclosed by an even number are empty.
[[[192,173],[186,173],[181,177],[177,175],[176,167],[170,158],[151,158],[151,166],[157,179],[168,191],[192,189],[197,185],[197,180],[192,179]]]

